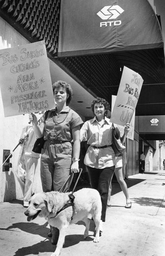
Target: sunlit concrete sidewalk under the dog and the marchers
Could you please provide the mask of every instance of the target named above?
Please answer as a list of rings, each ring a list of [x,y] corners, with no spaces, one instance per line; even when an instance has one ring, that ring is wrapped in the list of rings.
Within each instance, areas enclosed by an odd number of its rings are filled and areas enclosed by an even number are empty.
[[[72,224],[67,230],[61,256],[164,256],[165,171],[137,174],[126,180],[132,208],[126,209],[118,183],[113,183],[111,203],[99,243],[83,239],[85,227]],[[47,238],[49,226],[43,218],[27,222],[21,200],[0,203],[0,255],[50,256],[55,250]]]

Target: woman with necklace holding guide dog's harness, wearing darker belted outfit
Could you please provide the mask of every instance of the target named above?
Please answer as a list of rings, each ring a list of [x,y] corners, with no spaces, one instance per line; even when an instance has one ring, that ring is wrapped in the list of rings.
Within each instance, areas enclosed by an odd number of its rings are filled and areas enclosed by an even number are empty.
[[[59,80],[53,83],[52,88],[56,108],[44,113],[40,125],[36,116],[30,114],[37,137],[44,136],[45,139],[41,152],[44,192],[59,191],[70,172],[79,172],[79,131],[83,123],[79,115],[68,106],[73,95],[70,84]]]

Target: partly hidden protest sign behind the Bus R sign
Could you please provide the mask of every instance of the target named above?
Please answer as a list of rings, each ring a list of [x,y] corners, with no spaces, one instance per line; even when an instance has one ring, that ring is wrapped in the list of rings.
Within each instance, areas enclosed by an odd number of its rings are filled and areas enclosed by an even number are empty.
[[[117,96],[112,95],[112,111],[114,109],[116,97]],[[130,140],[134,139],[134,121],[135,121],[135,111],[134,111],[132,119],[130,121],[130,130],[129,130],[128,134],[127,134],[127,138],[130,139]],[[122,137],[123,134],[124,134],[124,126],[121,126],[121,125],[117,124],[117,127],[118,127],[118,129],[120,131],[120,135]]]

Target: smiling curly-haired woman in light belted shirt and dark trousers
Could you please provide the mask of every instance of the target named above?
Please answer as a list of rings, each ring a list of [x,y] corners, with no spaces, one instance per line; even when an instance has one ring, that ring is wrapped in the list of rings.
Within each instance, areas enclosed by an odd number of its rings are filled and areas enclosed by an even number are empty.
[[[89,147],[84,163],[87,165],[91,187],[99,191],[102,202],[100,231],[105,222],[108,188],[115,169],[115,153],[112,148],[112,123],[106,117],[109,104],[105,99],[96,98],[91,104],[95,117],[82,125],[80,140]]]

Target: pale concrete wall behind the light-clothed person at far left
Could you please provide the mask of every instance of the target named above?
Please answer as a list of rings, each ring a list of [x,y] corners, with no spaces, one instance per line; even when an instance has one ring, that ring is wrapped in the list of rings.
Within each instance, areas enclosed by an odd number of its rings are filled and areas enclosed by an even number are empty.
[[[8,23],[6,23],[0,17],[0,49],[6,49],[11,47],[17,47],[19,45],[28,44],[29,41],[22,37],[18,32],[16,32]],[[10,86],[10,84],[9,84]],[[10,150],[13,151],[15,146],[18,144],[20,134],[23,126],[28,124],[29,115],[19,115],[13,117],[4,117],[4,108],[2,95],[0,92],[0,166],[3,163],[3,151]],[[3,168],[0,169],[0,202],[10,201],[13,199],[21,199],[22,192],[17,181],[15,172],[17,168],[17,159],[19,154],[20,146],[16,148],[13,152],[13,156],[10,159],[12,163],[12,168],[9,172],[3,172]],[[37,167],[37,172],[35,176],[35,190],[41,190],[41,180],[40,180],[40,161]]]

